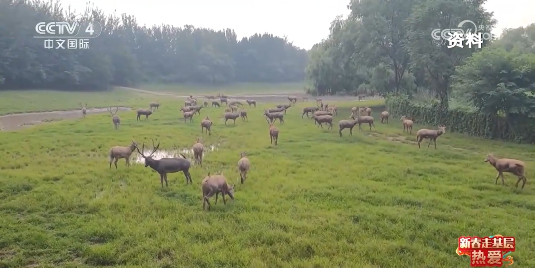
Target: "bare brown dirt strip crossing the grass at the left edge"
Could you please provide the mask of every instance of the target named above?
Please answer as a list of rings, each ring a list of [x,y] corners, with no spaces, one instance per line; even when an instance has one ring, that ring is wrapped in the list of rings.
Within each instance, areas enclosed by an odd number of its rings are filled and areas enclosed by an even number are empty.
[[[132,109],[121,107],[119,108],[119,110],[130,111]],[[87,109],[87,114],[98,114],[107,112],[108,110],[106,110],[105,108]],[[82,117],[83,115],[80,110],[9,114],[7,116],[0,116],[0,130],[14,131],[24,127],[43,124],[45,122],[77,119]]]

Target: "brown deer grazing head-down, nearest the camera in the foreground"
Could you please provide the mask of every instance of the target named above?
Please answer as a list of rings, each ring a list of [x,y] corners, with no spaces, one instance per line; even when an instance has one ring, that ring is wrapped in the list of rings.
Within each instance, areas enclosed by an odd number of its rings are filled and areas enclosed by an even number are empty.
[[[232,180],[232,179],[231,179]],[[210,176],[210,173],[208,173],[207,177],[205,177],[201,182],[201,191],[202,191],[202,209],[205,210],[206,205],[208,205],[208,211],[210,211],[210,202],[208,201],[208,198],[212,197],[213,195],[216,195],[216,205],[217,205],[217,198],[219,196],[219,193],[221,193],[221,197],[223,197],[223,203],[226,205],[227,200],[225,199],[225,195],[228,195],[231,197],[232,200],[234,200],[234,188],[236,184],[234,181],[232,181],[233,186],[228,185],[227,179],[221,173],[221,175],[212,175]]]

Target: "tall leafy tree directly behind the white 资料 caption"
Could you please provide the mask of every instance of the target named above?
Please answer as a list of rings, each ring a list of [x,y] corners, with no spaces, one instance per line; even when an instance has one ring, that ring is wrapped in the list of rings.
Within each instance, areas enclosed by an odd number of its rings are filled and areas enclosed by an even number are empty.
[[[476,25],[494,25],[492,13],[483,9],[485,2],[486,0],[420,0],[412,9],[408,19],[410,30],[407,43],[411,65],[424,68],[442,109],[449,106],[450,78],[455,67],[478,48],[448,48],[447,40],[434,40],[431,32],[433,29],[457,28],[458,23],[465,19],[470,19]],[[484,47],[487,44],[484,42],[482,45]]]

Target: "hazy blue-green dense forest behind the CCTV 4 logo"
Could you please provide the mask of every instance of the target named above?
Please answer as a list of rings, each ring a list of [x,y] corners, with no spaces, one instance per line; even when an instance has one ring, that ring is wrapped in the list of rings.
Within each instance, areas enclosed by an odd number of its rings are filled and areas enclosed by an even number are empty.
[[[307,51],[286,38],[191,25],[141,26],[128,14],[64,9],[59,2],[0,1],[0,89],[96,90],[141,82],[303,81]],[[45,21],[97,21],[88,49],[46,49],[33,38]],[[83,29],[82,29],[83,30]]]

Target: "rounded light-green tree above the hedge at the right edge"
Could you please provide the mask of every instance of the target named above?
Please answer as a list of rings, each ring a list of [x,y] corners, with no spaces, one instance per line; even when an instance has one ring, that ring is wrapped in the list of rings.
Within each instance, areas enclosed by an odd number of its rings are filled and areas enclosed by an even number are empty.
[[[455,90],[486,114],[535,113],[535,54],[488,47],[456,70]]]

